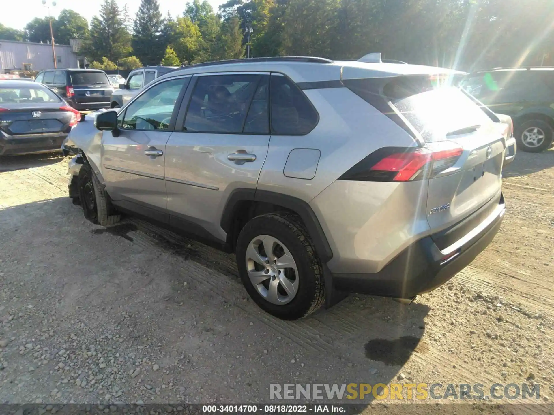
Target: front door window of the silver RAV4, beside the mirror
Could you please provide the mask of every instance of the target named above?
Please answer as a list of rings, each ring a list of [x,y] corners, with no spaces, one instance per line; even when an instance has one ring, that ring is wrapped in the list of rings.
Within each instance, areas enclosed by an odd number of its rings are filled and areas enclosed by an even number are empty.
[[[167,130],[181,89],[190,78],[172,79],[152,86],[120,115],[124,129]]]

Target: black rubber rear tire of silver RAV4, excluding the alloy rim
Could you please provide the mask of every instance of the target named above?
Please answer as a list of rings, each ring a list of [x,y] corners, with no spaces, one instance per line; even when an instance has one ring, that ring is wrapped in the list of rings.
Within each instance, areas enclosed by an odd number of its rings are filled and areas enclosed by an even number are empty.
[[[287,304],[270,303],[250,282],[247,249],[249,243],[260,235],[269,235],[283,242],[296,263],[298,288],[295,297]],[[236,252],[244,287],[254,302],[269,314],[283,320],[296,320],[315,312],[324,304],[325,284],[321,263],[308,232],[296,215],[275,212],[254,217],[240,231]]]

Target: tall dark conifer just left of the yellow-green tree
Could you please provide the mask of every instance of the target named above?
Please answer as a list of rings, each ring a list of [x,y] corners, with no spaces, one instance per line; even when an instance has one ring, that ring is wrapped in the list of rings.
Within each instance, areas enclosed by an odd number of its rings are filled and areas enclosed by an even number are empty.
[[[132,48],[146,65],[156,65],[163,56],[162,14],[157,0],[142,0],[134,23]]]

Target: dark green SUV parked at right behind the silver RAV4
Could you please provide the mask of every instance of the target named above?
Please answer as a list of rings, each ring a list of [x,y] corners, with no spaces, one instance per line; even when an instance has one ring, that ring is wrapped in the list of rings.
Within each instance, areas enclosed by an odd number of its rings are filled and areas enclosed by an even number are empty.
[[[517,147],[545,151],[554,131],[554,68],[495,68],[465,75],[463,87],[495,113],[512,117]]]

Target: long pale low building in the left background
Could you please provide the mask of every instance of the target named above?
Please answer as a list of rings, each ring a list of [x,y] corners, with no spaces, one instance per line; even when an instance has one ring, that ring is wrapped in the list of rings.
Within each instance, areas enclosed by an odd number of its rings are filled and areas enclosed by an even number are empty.
[[[78,56],[80,42],[71,45],[54,44],[58,68],[84,68],[85,60]],[[39,71],[53,69],[52,44],[0,40],[0,70]]]

